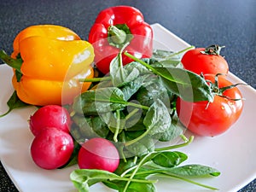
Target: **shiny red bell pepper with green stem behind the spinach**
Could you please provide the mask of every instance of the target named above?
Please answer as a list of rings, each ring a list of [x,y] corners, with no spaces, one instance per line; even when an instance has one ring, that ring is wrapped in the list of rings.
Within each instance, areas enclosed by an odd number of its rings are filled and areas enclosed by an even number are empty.
[[[102,10],[89,33],[95,49],[96,67],[109,72],[109,64],[125,45],[125,51],[137,58],[148,58],[153,52],[153,30],[144,21],[143,14],[130,6],[115,6]],[[122,55],[123,65],[131,59]]]

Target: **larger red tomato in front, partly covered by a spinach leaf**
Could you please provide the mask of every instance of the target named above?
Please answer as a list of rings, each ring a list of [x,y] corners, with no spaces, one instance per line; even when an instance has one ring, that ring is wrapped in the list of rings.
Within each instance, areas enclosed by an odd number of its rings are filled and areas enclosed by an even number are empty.
[[[214,75],[205,75],[206,79],[214,82]],[[218,76],[218,87],[230,86],[230,81]],[[241,99],[241,92],[237,87],[224,90],[223,96],[232,99]],[[177,99],[177,115],[181,123],[190,131],[201,135],[213,137],[227,131],[240,117],[243,101],[234,101],[223,96],[214,96],[210,102],[185,102]]]

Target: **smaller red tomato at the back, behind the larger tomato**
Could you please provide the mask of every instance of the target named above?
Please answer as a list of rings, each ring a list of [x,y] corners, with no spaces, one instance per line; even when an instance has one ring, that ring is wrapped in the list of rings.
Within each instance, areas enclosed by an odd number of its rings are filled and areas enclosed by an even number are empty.
[[[212,48],[212,46],[210,47]],[[197,74],[228,73],[229,65],[223,56],[218,55],[219,50],[216,49],[214,49],[214,46],[209,51],[205,48],[190,49],[183,55],[181,60],[183,67]],[[201,53],[201,51],[205,50],[207,52],[206,54]]]

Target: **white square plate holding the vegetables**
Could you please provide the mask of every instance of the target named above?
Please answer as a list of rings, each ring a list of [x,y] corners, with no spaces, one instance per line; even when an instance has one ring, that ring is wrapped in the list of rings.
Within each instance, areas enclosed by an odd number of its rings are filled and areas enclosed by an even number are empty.
[[[178,51],[189,46],[172,32],[160,24],[152,25],[154,29],[154,48]],[[6,102],[13,93],[11,84],[12,69],[0,66],[0,113],[8,110]],[[233,83],[244,83],[234,74],[228,78]],[[189,155],[185,163],[199,163],[217,168],[219,177],[195,178],[196,181],[211,185],[219,192],[236,192],[256,177],[256,139],[255,108],[256,90],[251,86],[240,86],[246,98],[241,118],[231,129],[218,137],[195,137],[193,143],[179,148]],[[23,192],[74,192],[76,189],[69,179],[70,172],[77,166],[62,170],[43,170],[36,166],[30,156],[32,133],[29,131],[27,119],[36,108],[15,109],[0,119],[0,157],[4,168],[15,186]],[[170,178],[160,178],[156,183],[159,192],[207,192],[190,183]],[[108,192],[102,184],[96,184],[90,191]]]

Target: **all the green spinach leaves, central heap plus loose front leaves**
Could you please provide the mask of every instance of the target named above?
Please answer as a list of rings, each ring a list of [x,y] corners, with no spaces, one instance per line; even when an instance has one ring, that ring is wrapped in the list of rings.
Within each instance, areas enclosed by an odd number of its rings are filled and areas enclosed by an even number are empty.
[[[98,182],[119,191],[149,192],[155,191],[155,181],[147,180],[150,175],[176,177],[191,183],[194,182],[184,177],[218,176],[219,172],[208,166],[178,166],[187,159],[186,154],[166,151],[193,139],[184,137],[182,128],[177,126],[177,96],[190,102],[212,102],[207,81],[183,69],[178,53],[155,50],[151,58],[138,60],[125,52],[135,61],[123,66],[122,52],[111,62],[109,76],[87,79],[99,83],[75,98],[71,131],[78,143],[91,137],[113,141],[119,149],[121,164],[115,173],[76,170],[71,174],[74,185],[81,192]],[[156,143],[176,137],[182,137],[185,143],[156,147]]]

